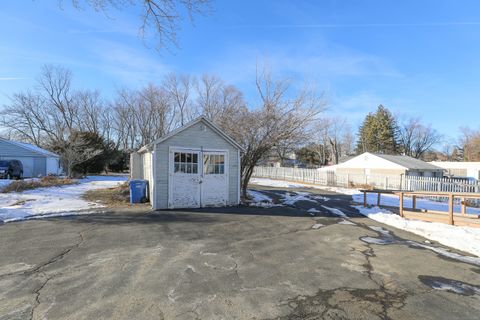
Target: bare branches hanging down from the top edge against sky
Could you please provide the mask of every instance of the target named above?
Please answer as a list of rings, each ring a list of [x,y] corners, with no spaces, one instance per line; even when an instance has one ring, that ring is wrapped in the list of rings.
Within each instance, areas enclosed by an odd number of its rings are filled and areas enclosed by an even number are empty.
[[[90,6],[96,11],[108,13],[110,10],[121,10],[127,7],[139,7],[139,35],[144,40],[153,35],[157,41],[157,49],[178,47],[177,32],[185,16],[193,22],[194,16],[209,11],[211,0],[71,0],[75,8]],[[59,0],[63,3],[62,0]]]

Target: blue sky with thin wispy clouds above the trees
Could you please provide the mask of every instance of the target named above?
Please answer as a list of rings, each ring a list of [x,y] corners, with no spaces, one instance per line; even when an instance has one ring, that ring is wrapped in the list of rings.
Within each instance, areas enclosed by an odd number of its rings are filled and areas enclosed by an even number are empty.
[[[47,3],[48,2],[48,3]],[[379,104],[455,138],[478,128],[480,2],[469,0],[221,1],[185,22],[180,48],[155,51],[133,9],[74,10],[68,0],[19,0],[0,11],[0,105],[62,64],[78,88],[106,97],[168,72],[222,77],[254,104],[257,61],[325,90],[328,114],[356,127]]]

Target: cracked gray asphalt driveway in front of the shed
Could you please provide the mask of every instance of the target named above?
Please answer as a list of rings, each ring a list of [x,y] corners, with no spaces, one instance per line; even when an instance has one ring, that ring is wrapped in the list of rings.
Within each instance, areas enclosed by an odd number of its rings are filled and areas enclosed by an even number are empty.
[[[309,199],[288,207],[2,225],[0,319],[479,318],[479,265],[411,245],[425,239],[359,215],[348,196],[298,191]]]

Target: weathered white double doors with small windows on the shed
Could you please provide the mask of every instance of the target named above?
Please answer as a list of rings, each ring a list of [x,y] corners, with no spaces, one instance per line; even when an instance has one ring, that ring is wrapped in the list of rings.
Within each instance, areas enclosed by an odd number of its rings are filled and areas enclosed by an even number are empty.
[[[223,206],[227,203],[226,151],[172,149],[169,171],[169,208]]]

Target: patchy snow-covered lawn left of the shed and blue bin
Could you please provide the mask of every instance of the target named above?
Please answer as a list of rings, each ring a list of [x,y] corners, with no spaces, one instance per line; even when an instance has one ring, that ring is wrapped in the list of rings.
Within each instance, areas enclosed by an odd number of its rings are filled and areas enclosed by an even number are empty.
[[[40,188],[20,193],[0,193],[0,221],[84,214],[89,210],[103,207],[99,203],[82,199],[85,192],[115,187],[125,181],[126,176],[88,176],[78,180],[79,183],[74,185]]]

